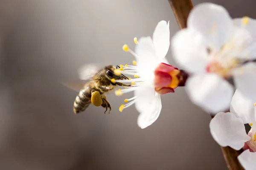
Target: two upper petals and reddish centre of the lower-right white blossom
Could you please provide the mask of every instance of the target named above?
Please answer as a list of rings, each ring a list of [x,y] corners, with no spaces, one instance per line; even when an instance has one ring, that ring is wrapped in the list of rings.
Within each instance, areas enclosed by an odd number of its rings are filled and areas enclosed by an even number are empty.
[[[237,89],[230,105],[230,112],[220,112],[210,122],[212,137],[222,147],[230,146],[240,150],[247,142],[252,151],[256,151],[256,106],[245,98]],[[249,124],[252,133],[245,131],[244,124]],[[250,135],[250,136],[249,136]]]

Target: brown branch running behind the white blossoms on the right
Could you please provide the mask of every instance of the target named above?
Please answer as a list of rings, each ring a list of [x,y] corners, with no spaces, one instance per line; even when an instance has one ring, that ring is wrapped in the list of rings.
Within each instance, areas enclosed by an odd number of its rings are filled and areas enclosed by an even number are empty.
[[[191,0],[168,0],[168,1],[172,7],[172,11],[176,17],[176,20],[180,29],[186,28],[186,21],[189,16],[189,12],[193,8],[192,1]],[[186,79],[184,83],[185,82],[186,82]],[[214,116],[211,115],[211,117],[213,118]],[[244,170],[244,168],[241,166],[241,164],[237,159],[237,156],[239,156],[243,150],[234,150],[231,147],[221,147],[221,150],[229,170]]]

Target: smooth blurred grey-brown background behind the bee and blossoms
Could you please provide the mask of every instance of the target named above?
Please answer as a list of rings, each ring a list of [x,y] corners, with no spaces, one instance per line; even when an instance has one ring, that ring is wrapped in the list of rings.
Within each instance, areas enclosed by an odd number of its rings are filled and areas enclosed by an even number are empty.
[[[256,18],[254,0],[211,2]],[[60,84],[86,63],[130,64],[122,45],[134,49],[160,20],[171,37],[178,31],[168,0],[1,0],[0,169],[227,170],[209,115],[183,88],[162,96],[160,117],[140,129],[134,106],[118,111],[132,94],[109,94],[111,114],[90,106],[75,115],[77,93]]]

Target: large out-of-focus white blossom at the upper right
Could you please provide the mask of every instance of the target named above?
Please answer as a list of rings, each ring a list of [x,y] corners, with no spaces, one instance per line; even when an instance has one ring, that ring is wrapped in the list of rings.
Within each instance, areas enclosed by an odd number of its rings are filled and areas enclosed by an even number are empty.
[[[256,58],[256,20],[232,20],[224,7],[201,3],[190,12],[187,26],[172,38],[172,52],[193,74],[186,82],[192,102],[213,113],[224,111],[233,96],[226,79],[233,76],[236,88],[256,99],[256,65],[243,64]]]

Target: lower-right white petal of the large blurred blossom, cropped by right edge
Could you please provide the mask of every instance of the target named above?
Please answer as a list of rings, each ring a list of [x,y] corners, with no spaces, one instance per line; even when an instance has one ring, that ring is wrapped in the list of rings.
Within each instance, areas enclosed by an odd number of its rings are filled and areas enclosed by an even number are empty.
[[[233,71],[236,88],[244,97],[256,102],[256,64],[247,63]]]

